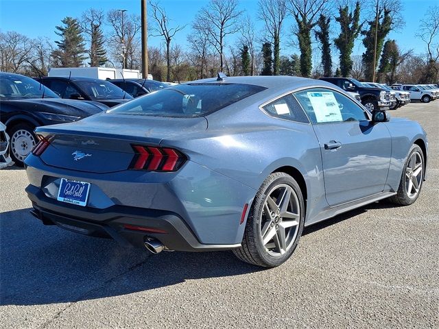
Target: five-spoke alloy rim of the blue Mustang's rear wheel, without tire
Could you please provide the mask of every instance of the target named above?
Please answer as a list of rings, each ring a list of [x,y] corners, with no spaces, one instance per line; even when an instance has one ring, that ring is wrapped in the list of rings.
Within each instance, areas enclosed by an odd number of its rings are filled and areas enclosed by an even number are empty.
[[[296,241],[300,223],[298,196],[287,184],[274,186],[263,204],[260,237],[268,254],[282,256]]]

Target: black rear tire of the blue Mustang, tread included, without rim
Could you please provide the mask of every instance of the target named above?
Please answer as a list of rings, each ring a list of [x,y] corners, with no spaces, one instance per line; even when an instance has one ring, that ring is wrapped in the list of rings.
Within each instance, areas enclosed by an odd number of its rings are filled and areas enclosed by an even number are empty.
[[[285,254],[281,256],[272,256],[265,248],[261,236],[261,220],[263,216],[263,208],[268,195],[276,186],[283,184],[290,186],[292,191],[296,193],[299,219],[298,225],[294,228],[294,239],[290,242]],[[303,225],[305,222],[305,202],[303,201],[302,192],[296,180],[287,173],[272,173],[263,182],[261,188],[257,192],[256,197],[248,215],[244,238],[239,249],[234,249],[233,253],[240,260],[261,267],[276,267],[285,262],[296,249],[300,236],[302,235]],[[280,225],[279,225],[280,226]],[[276,226],[277,228],[277,226]],[[291,231],[290,231],[291,232]]]

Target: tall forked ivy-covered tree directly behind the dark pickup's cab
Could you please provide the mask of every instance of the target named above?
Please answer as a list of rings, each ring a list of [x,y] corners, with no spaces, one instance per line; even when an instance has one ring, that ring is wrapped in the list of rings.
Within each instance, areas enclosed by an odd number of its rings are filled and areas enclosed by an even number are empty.
[[[345,7],[340,6],[338,12],[339,16],[335,17],[335,21],[340,23],[340,35],[334,39],[334,44],[340,51],[340,74],[348,77],[353,66],[351,54],[354,42],[363,27],[363,24],[359,24],[359,1],[355,4],[354,12],[349,12],[347,5]]]

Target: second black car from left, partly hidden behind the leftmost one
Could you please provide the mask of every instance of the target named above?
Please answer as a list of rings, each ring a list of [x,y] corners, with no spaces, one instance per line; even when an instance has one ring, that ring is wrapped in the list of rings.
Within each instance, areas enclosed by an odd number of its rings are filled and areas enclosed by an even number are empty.
[[[132,99],[118,86],[93,77],[37,77],[35,80],[61,98],[99,101],[110,108]]]

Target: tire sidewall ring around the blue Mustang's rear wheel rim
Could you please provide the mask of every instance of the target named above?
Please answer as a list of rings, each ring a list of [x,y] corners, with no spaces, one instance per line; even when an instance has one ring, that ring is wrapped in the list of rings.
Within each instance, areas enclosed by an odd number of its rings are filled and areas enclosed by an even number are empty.
[[[287,260],[292,255],[294,249],[296,249],[298,245],[298,241],[300,239],[300,236],[302,235],[305,222],[305,202],[303,200],[300,187],[298,186],[296,180],[294,180],[294,178],[292,178],[290,175],[287,175],[285,173],[276,178],[269,176],[268,180],[271,181],[267,182],[267,180],[265,180],[264,184],[261,186],[261,188],[263,188],[263,191],[261,191],[261,197],[256,197],[252,204],[252,209],[250,210],[250,217],[252,220],[250,221],[251,228],[249,229],[252,230],[252,236],[254,236],[258,254],[262,258],[263,262],[266,263],[269,267],[276,267],[284,263],[285,260]],[[268,183],[268,185],[266,183]],[[261,234],[259,232],[263,204],[265,202],[265,199],[268,197],[266,193],[270,192],[272,188],[274,188],[274,186],[278,184],[287,184],[291,186],[294,190],[294,193],[296,193],[300,206],[300,221],[296,239],[292,247],[290,247],[290,249],[282,256],[274,257],[268,254],[268,252],[266,251],[265,247],[263,246]]]

